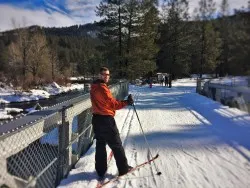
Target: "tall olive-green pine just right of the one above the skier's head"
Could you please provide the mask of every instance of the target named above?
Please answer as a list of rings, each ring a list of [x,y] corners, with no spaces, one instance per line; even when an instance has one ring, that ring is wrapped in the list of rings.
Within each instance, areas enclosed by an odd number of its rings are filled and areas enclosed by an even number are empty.
[[[132,2],[135,2],[134,0]],[[137,1],[135,15],[129,17],[127,50],[128,77],[136,78],[156,69],[158,10],[155,1]],[[131,9],[130,9],[131,10]],[[131,15],[131,14],[129,14]],[[131,21],[133,20],[133,21]],[[132,22],[132,23],[131,23]],[[131,45],[131,44],[133,45]]]

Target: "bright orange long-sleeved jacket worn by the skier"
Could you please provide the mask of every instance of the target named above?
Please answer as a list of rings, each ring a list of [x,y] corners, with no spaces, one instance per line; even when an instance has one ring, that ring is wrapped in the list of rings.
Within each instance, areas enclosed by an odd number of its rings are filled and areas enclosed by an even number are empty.
[[[108,86],[102,80],[91,85],[90,98],[93,114],[115,116],[115,111],[128,105],[127,101],[113,98]]]

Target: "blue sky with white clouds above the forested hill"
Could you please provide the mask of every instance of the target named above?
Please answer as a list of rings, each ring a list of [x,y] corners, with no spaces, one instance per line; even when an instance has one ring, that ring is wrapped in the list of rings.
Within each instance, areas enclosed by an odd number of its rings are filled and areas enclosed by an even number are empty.
[[[0,0],[0,31],[29,25],[62,27],[98,21],[95,7],[101,0]],[[160,0],[161,2],[163,0]],[[189,0],[190,13],[199,0]],[[221,0],[214,0],[217,6]],[[248,0],[229,0],[230,8],[247,5]],[[161,3],[160,3],[161,4]],[[15,20],[14,22],[12,20]]]

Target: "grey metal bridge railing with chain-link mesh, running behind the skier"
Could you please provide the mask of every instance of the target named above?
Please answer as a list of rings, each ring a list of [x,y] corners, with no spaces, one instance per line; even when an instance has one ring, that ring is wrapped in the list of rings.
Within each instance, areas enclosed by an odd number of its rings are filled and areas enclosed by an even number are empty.
[[[110,88],[118,99],[128,95],[126,81]],[[71,99],[62,108],[48,108],[45,114],[1,134],[1,188],[55,187],[92,144],[89,94]]]

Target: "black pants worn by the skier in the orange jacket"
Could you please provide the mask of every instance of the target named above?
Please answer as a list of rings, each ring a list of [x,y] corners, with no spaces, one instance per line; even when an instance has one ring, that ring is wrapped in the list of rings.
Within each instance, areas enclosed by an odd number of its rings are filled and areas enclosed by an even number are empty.
[[[97,174],[103,176],[107,170],[106,144],[113,151],[119,174],[127,172],[127,158],[115,119],[112,116],[93,114],[92,125],[96,137],[95,169]]]

